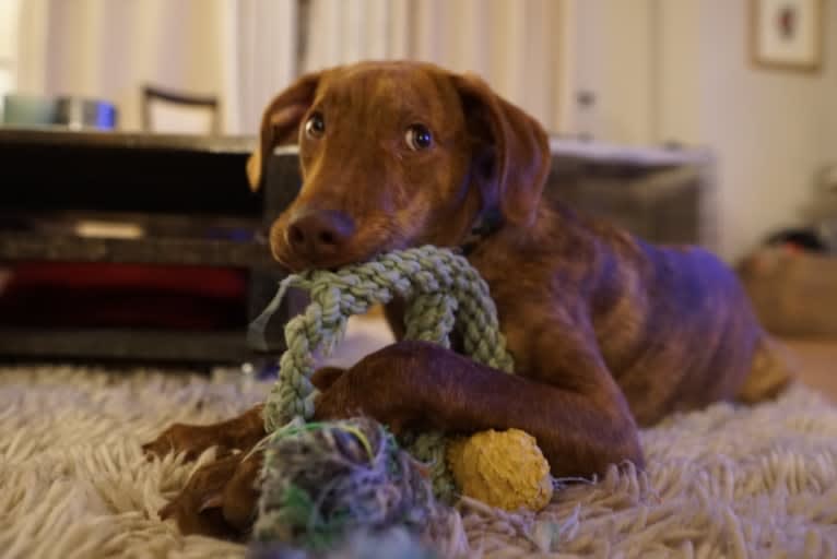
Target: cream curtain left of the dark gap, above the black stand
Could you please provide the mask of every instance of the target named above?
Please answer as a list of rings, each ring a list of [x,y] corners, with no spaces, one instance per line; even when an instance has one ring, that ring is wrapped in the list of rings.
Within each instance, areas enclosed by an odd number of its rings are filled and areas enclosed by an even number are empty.
[[[25,0],[17,86],[111,100],[123,130],[145,83],[216,95],[223,130],[254,133],[296,73],[295,23],[296,0]]]

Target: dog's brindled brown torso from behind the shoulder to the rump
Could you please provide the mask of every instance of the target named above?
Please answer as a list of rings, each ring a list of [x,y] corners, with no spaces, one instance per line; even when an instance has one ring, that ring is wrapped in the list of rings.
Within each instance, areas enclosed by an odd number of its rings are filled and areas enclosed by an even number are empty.
[[[638,424],[719,400],[758,401],[787,384],[791,369],[778,344],[758,324],[739,278],[710,252],[649,245],[554,201],[539,212],[535,229],[524,241],[494,241],[518,245],[491,249],[505,254],[502,265],[482,257],[498,305],[521,302],[519,295],[504,301],[510,270],[526,270],[529,282],[540,270],[543,285],[557,285],[552,297],[585,300],[601,355]],[[509,260],[515,254],[528,262]]]

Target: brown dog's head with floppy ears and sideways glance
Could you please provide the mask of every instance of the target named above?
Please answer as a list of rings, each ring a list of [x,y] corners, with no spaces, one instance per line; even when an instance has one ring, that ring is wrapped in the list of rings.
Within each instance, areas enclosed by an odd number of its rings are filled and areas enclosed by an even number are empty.
[[[549,170],[542,127],[478,78],[366,62],[305,75],[268,106],[247,165],[299,143],[303,186],[273,224],[291,270],[335,267],[423,243],[461,243],[497,214],[532,224]]]

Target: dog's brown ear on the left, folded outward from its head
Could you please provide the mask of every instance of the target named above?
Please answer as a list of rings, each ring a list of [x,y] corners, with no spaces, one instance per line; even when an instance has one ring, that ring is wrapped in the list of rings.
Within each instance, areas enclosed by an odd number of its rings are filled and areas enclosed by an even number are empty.
[[[250,188],[259,189],[264,165],[273,148],[297,140],[299,122],[314,103],[322,72],[306,74],[276,95],[261,117],[259,146],[247,159],[247,179]]]

